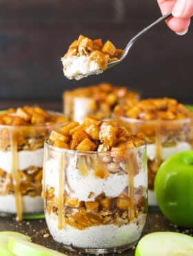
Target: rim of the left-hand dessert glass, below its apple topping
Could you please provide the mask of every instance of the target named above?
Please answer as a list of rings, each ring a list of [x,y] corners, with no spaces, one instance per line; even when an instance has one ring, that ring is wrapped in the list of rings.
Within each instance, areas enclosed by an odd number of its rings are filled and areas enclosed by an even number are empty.
[[[46,110],[48,113],[50,114],[57,114],[58,116],[63,116],[65,118],[68,118],[64,113],[59,112],[59,111],[52,111],[52,110]],[[0,113],[1,115],[1,113]],[[65,122],[68,122],[65,121]],[[0,125],[0,129],[19,129],[19,128],[34,128],[34,129],[42,129],[42,128],[52,128],[52,127],[56,127],[56,126],[61,126],[63,124],[65,124],[65,122],[55,122],[50,124],[49,122],[45,122],[44,125]]]

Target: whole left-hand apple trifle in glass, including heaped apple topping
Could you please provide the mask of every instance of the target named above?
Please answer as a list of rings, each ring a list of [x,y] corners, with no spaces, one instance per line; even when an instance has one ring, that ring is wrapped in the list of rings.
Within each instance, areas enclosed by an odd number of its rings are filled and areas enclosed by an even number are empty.
[[[0,212],[43,212],[43,143],[67,118],[40,107],[19,107],[0,114]]]

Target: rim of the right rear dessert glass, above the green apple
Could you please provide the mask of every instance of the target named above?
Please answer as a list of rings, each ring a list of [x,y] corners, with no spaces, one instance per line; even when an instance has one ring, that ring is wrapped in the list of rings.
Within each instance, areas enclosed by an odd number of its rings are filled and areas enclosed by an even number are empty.
[[[114,115],[115,118],[119,118],[123,121],[128,121],[131,124],[134,122],[137,123],[150,123],[150,124],[156,124],[157,122],[166,122],[166,123],[183,123],[183,122],[191,122],[191,118],[182,118],[182,119],[175,119],[175,120],[163,120],[163,119],[154,119],[154,120],[141,120],[141,119],[136,119],[136,118],[129,118],[126,116],[116,116]]]

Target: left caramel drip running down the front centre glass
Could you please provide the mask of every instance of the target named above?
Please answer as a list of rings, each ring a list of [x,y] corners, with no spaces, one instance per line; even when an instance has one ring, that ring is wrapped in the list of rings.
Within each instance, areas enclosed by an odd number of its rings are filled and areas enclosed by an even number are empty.
[[[64,180],[65,180],[65,164],[64,164],[65,153],[61,152],[60,166],[59,166],[59,201],[58,201],[58,228],[63,229],[63,204],[64,204]]]

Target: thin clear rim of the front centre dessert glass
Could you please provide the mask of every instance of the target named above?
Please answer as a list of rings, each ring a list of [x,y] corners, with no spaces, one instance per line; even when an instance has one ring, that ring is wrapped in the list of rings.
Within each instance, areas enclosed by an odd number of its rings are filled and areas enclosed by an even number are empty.
[[[139,147],[132,147],[131,149],[122,149],[122,150],[113,150],[113,151],[103,151],[103,152],[98,152],[98,151],[79,151],[79,150],[73,150],[73,149],[65,149],[65,148],[61,148],[61,147],[55,147],[53,145],[50,145],[48,143],[48,140],[44,141],[44,147],[48,148],[48,149],[52,149],[54,151],[63,153],[63,152],[67,152],[69,154],[110,154],[112,152],[132,152],[132,151],[136,151],[138,149],[146,149],[147,143],[146,141],[144,142],[143,145],[139,146]]]

